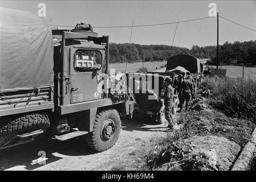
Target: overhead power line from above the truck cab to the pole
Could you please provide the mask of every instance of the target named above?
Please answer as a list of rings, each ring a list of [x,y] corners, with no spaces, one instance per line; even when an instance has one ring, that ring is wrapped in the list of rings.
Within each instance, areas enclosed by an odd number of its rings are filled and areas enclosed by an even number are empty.
[[[196,20],[208,19],[208,18],[212,18],[212,17],[214,17],[214,16],[207,16],[207,17],[204,17],[204,18],[183,20],[183,21],[180,21],[180,22],[170,22],[170,23],[143,24],[143,25],[134,25],[134,26],[93,26],[93,28],[130,28],[130,27],[160,26],[160,25],[166,25],[166,24],[176,24],[176,23],[193,22],[193,21],[196,21]],[[51,25],[51,26],[56,26],[56,27],[74,27],[74,26],[64,26],[64,25]]]

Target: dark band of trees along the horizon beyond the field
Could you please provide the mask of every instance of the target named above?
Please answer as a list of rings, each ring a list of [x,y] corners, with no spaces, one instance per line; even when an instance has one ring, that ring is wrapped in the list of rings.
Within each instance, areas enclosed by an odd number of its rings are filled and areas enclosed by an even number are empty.
[[[134,63],[137,61],[163,61],[177,54],[189,54],[199,59],[216,62],[216,46],[192,46],[190,49],[167,45],[141,45],[110,43],[110,63]],[[249,42],[226,42],[219,46],[219,60],[222,64],[246,63],[256,65],[256,40]]]

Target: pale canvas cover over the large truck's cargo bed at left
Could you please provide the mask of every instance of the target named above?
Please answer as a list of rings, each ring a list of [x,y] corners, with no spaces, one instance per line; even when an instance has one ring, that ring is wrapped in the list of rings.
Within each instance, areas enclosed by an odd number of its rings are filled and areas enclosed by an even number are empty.
[[[0,92],[53,86],[49,24],[28,11],[0,7]]]

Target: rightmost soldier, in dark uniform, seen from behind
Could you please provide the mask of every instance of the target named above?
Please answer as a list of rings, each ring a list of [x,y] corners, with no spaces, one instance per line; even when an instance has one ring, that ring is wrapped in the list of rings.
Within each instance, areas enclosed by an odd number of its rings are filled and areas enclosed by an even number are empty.
[[[182,88],[181,88],[182,97],[181,97],[181,104],[180,104],[180,113],[182,112],[184,101],[186,101],[185,110],[187,111],[189,101],[191,99],[191,94],[193,94],[193,83],[190,80],[190,78],[191,78],[190,76],[187,76],[182,83]]]

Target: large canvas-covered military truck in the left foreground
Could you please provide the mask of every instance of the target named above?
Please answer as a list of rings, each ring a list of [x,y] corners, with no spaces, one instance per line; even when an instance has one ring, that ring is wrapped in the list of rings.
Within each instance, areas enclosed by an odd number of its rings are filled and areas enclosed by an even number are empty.
[[[40,134],[60,141],[84,136],[108,150],[121,131],[119,113],[133,101],[109,98],[109,36],[91,26],[51,30],[27,11],[0,9],[0,149]],[[89,29],[88,29],[89,28]],[[105,87],[105,88],[104,88]]]

